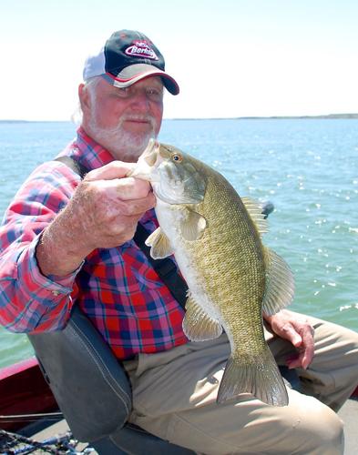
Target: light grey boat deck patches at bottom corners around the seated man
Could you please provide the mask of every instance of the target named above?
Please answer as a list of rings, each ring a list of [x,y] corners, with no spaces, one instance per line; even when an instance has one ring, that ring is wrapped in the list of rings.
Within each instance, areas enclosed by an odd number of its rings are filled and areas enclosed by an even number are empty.
[[[344,404],[342,410],[339,411],[339,416],[344,421],[345,433],[345,450],[344,455],[357,455],[358,454],[358,399],[348,399]],[[64,433],[68,430],[65,420],[57,422],[46,430],[40,431],[34,435],[36,440],[44,440],[54,434]],[[78,446],[78,450],[85,448],[87,444]],[[34,452],[36,453],[36,452]],[[93,451],[92,454],[96,455],[97,452]]]

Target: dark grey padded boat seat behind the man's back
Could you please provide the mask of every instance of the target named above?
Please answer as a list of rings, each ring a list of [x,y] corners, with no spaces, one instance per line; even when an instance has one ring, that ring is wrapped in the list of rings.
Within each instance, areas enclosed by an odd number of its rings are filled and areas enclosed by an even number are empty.
[[[194,453],[128,423],[127,374],[78,306],[65,329],[28,338],[74,438],[100,455]]]

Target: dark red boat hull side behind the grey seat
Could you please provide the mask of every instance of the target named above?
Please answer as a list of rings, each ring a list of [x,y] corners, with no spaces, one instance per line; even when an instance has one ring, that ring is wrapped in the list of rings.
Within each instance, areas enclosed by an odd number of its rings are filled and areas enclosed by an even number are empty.
[[[358,386],[352,396],[358,399]],[[36,358],[0,369],[0,416],[56,410],[58,410],[56,399],[42,375]],[[2,421],[0,417],[2,430],[19,430],[27,423],[26,421],[8,423]]]

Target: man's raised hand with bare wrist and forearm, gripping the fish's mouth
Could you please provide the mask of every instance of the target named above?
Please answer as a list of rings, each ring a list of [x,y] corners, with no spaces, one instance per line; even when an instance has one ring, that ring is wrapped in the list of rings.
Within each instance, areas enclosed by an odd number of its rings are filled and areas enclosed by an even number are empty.
[[[138,220],[155,206],[148,182],[126,177],[133,166],[114,161],[88,172],[37,246],[44,275],[65,276],[95,248],[115,248],[133,238]]]

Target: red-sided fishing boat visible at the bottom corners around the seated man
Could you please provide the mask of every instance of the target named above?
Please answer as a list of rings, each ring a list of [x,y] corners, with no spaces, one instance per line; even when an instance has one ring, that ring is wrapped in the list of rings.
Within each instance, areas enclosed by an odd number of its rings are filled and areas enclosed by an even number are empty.
[[[343,406],[342,412],[347,440],[344,453],[353,455],[358,453],[358,435],[355,430],[358,418],[358,386],[354,389],[351,399]],[[3,434],[10,432],[30,438],[36,434],[46,434],[39,433],[46,429],[48,434],[51,426],[61,421],[64,421],[61,411],[35,357],[0,369],[0,429],[3,430]],[[68,430],[66,425],[62,425],[61,428],[65,432]],[[1,451],[0,445],[0,453],[27,452],[4,452]]]

